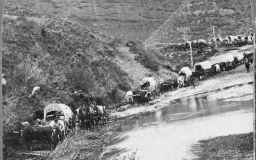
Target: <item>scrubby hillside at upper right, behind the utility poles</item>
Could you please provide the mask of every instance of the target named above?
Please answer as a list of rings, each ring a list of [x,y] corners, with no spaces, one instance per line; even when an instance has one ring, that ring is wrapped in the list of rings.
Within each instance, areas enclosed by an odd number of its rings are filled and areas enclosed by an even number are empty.
[[[212,38],[211,26],[220,28],[221,36],[249,35],[252,28],[252,11],[247,0],[202,1],[189,0],[180,6],[163,25],[145,40],[145,46],[182,43],[177,28],[189,27],[191,40]],[[215,32],[216,36],[219,31]]]

